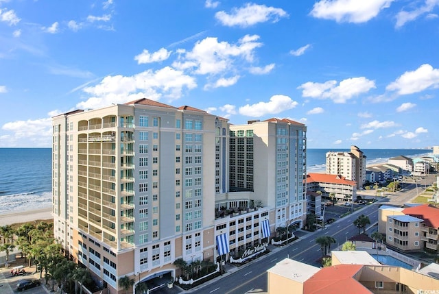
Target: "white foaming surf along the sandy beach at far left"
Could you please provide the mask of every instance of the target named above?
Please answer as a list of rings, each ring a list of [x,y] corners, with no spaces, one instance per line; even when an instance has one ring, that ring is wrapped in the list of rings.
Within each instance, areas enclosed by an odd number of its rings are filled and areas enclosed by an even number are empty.
[[[34,210],[48,208],[52,204],[52,193],[20,193],[1,195],[0,214],[5,212],[15,212],[24,210]]]

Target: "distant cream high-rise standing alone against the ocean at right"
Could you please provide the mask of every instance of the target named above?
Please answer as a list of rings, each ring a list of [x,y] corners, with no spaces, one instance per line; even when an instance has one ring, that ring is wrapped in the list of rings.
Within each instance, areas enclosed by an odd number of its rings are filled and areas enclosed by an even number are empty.
[[[366,182],[366,156],[357,146],[351,151],[331,151],[326,154],[326,173],[342,175],[357,183],[360,188]]]

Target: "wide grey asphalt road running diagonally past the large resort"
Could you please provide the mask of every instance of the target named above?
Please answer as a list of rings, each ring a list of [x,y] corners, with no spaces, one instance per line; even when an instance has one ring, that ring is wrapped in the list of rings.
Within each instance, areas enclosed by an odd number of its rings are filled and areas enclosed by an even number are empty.
[[[379,205],[402,205],[421,192],[421,185],[425,188],[425,186],[431,185],[435,180],[436,175],[428,175],[425,180],[407,183],[404,185],[403,191],[386,193],[385,198],[379,197],[379,202],[363,206],[353,214],[342,219],[336,219],[335,223],[327,225],[324,230],[308,233],[298,239],[298,241],[281,248],[276,248],[267,256],[248,263],[235,273],[226,275],[211,284],[206,283],[197,289],[188,291],[188,293],[267,293],[267,270],[276,265],[276,262],[283,260],[283,258],[292,258],[320,267],[318,260],[322,257],[322,253],[320,245],[316,243],[316,238],[319,236],[332,236],[337,241],[337,244],[334,244],[333,247],[337,247],[348,240],[348,238],[358,234],[358,229],[353,225],[353,221],[359,215],[368,216],[371,224],[377,223]]]

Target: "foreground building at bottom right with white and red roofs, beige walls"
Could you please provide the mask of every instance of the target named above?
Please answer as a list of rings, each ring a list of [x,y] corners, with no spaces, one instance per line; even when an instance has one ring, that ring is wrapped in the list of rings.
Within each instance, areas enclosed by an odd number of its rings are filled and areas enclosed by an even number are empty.
[[[267,271],[268,293],[435,293],[439,289],[436,278],[379,265],[366,252],[333,254],[332,264],[319,268],[285,258]]]

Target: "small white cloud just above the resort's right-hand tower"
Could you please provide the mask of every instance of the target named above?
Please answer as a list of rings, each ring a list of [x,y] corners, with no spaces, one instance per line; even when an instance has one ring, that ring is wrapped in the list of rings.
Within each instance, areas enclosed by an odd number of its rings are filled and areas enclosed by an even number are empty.
[[[262,117],[265,114],[277,114],[284,110],[295,108],[298,105],[290,97],[285,95],[274,95],[268,102],[259,102],[253,105],[247,104],[239,108],[239,114],[248,117]]]

